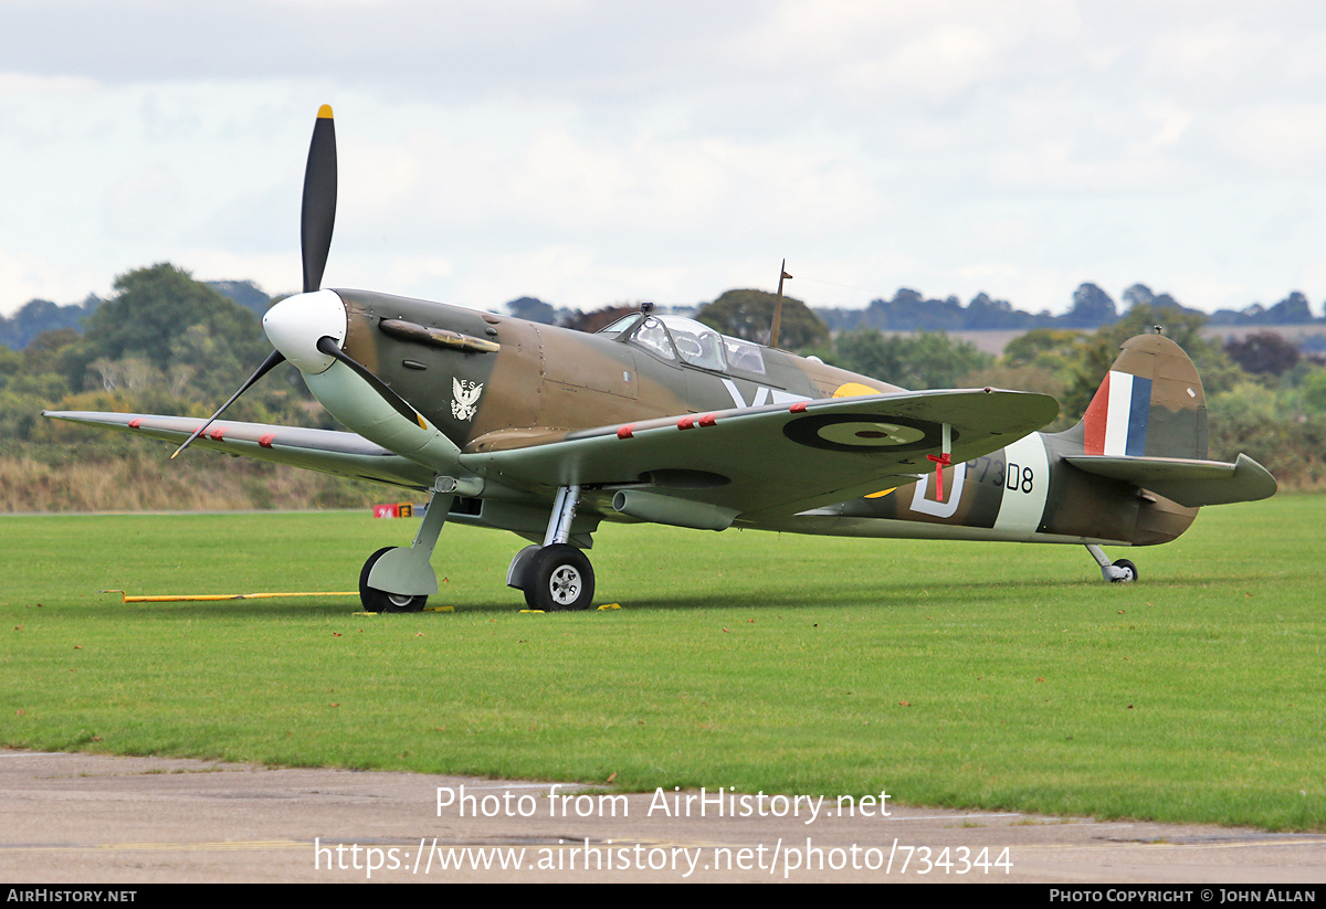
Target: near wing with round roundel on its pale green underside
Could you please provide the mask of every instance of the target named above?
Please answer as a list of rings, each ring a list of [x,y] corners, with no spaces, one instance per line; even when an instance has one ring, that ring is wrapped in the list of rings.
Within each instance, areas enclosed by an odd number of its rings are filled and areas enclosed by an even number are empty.
[[[757,523],[932,472],[928,456],[940,456],[945,424],[956,464],[1009,445],[1057,415],[1053,398],[1029,392],[902,392],[601,427],[460,460],[529,490],[634,489],[719,509],[728,522]],[[597,508],[609,511],[602,498]]]

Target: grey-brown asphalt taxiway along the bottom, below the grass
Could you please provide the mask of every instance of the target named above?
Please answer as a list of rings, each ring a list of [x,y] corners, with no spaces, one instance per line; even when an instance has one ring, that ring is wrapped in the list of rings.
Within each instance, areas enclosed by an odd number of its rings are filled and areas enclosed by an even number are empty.
[[[0,879],[1326,881],[1322,835],[699,795],[0,750]]]

